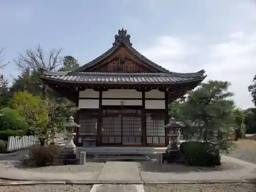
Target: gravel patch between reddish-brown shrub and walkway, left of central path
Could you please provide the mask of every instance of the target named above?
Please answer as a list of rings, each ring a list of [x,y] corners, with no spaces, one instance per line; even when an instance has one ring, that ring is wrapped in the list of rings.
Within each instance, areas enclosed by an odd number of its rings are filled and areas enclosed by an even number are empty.
[[[46,167],[28,167],[25,165],[16,165],[17,168],[33,170],[36,172],[100,172],[105,163],[89,162],[84,165],[62,165],[62,166],[46,166]]]

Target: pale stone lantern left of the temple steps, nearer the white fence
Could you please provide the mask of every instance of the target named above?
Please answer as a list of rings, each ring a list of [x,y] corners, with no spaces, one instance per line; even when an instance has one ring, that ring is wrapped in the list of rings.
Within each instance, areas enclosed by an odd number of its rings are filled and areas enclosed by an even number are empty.
[[[77,129],[77,127],[80,127],[80,125],[74,122],[74,117],[70,116],[68,122],[64,123],[63,126],[66,127],[66,130],[67,130],[66,136],[68,139],[63,149],[70,150],[75,153],[76,145],[73,140],[76,133],[74,132],[75,132],[75,129]]]

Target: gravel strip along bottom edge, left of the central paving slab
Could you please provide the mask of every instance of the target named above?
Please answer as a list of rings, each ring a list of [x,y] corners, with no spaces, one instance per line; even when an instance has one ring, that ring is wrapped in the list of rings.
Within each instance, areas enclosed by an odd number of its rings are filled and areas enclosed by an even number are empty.
[[[91,185],[0,186],[1,192],[89,192]]]

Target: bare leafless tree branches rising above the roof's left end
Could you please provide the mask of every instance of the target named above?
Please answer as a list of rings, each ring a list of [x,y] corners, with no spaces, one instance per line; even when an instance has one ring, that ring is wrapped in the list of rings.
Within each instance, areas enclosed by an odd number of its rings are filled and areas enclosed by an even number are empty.
[[[14,62],[24,71],[38,71],[40,68],[52,71],[62,64],[61,51],[62,49],[52,49],[47,58],[42,47],[38,45],[35,50],[27,49],[25,55],[19,54],[18,59]]]

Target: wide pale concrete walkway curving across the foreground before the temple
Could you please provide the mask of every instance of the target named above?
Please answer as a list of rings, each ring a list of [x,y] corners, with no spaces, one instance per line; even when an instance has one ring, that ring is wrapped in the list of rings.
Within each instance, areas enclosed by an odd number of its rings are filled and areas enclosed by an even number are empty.
[[[235,182],[256,178],[256,164],[232,157],[223,156],[223,161],[242,165],[242,169],[219,170],[211,172],[142,172],[136,162],[106,162],[100,172],[38,172],[19,169],[13,162],[0,161],[0,178],[30,181],[68,181],[75,183],[183,183],[183,182]],[[175,165],[174,165],[175,166]]]

